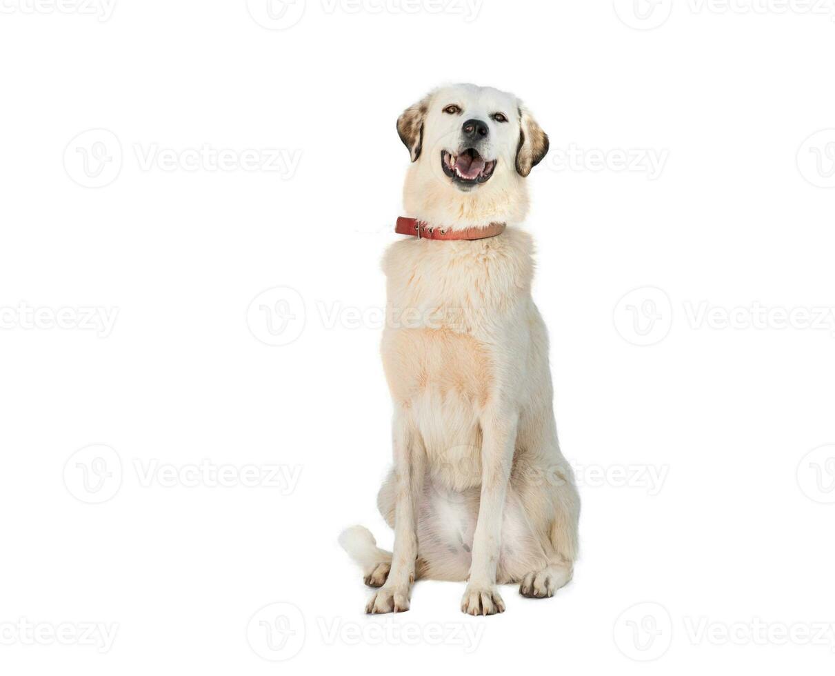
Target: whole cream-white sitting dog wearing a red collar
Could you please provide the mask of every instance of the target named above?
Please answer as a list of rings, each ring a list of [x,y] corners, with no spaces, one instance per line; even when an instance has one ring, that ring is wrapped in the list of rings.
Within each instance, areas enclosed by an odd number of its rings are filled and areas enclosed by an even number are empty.
[[[387,250],[382,361],[394,465],[377,505],[393,552],[340,536],[379,587],[366,612],[409,608],[417,579],[467,581],[461,609],[504,612],[499,584],[552,597],[572,577],[579,495],[559,450],[548,335],[519,229],[548,136],[513,94],[442,87],[397,119],[411,165],[408,239]]]

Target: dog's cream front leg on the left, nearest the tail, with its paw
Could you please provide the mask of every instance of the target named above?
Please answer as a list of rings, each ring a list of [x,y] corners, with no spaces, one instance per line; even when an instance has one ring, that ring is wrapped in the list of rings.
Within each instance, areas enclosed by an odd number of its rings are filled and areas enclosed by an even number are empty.
[[[403,612],[409,609],[409,596],[415,581],[417,560],[417,514],[423,491],[424,455],[417,443],[417,432],[404,412],[393,424],[394,475],[397,495],[394,502],[394,551],[388,578],[366,606],[366,612]]]

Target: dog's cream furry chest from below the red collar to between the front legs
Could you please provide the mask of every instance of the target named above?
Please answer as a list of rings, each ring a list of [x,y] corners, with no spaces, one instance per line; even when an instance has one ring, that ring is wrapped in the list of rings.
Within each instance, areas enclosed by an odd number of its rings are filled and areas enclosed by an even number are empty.
[[[480,475],[480,414],[496,394],[496,346],[529,296],[528,240],[403,241],[387,252],[382,361],[395,405],[433,472],[463,488]],[[461,246],[458,246],[461,245]]]

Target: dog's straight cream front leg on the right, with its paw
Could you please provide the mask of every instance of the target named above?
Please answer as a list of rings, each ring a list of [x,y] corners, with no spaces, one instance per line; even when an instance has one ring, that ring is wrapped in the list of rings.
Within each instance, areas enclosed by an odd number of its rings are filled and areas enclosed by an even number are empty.
[[[461,609],[470,615],[504,612],[496,587],[496,568],[502,544],[502,515],[514,460],[517,419],[492,412],[482,419],[481,501],[473,537],[473,562]]]

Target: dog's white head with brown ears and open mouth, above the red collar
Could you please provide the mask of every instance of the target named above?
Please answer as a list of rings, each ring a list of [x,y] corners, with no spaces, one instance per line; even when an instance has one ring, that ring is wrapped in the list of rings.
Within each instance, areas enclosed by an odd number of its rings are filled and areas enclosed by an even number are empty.
[[[524,177],[548,136],[513,94],[473,84],[436,89],[397,119],[412,166],[407,211],[443,226],[519,221]]]

